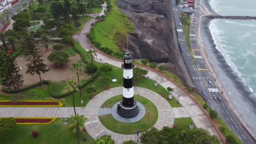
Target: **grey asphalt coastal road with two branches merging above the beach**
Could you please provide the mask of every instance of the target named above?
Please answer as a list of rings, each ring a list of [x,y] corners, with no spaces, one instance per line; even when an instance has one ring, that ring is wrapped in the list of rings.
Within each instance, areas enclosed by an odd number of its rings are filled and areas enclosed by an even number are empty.
[[[241,125],[235,115],[233,115],[232,109],[229,109],[227,103],[224,101],[222,94],[216,87],[215,79],[211,77],[211,73],[208,72],[208,69],[205,66],[204,59],[200,53],[200,48],[198,48],[197,46],[196,30],[200,18],[201,0],[197,0],[195,4],[195,12],[192,17],[191,25],[189,27],[189,42],[192,48],[192,54],[195,58],[196,65],[194,64],[191,58],[191,54],[189,53],[189,50],[187,48],[186,37],[183,32],[183,27],[180,24],[181,20],[179,17],[179,8],[177,7],[175,0],[171,0],[171,5],[173,8],[173,15],[179,39],[180,51],[195,86],[200,89],[200,91],[205,92],[205,95],[203,95],[203,99],[205,99],[208,106],[219,113],[219,116],[222,118],[222,120],[224,120],[228,127],[237,135],[239,139],[243,141],[243,143],[256,144],[248,131],[243,127],[243,125]],[[209,81],[211,81],[211,84],[209,83]],[[219,97],[221,100],[214,100],[213,95]]]

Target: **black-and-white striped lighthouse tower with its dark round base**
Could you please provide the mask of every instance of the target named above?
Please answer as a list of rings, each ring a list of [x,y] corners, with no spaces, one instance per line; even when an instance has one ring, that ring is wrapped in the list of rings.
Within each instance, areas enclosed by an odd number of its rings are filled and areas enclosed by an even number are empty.
[[[134,101],[133,92],[133,68],[132,57],[129,52],[123,58],[123,99],[117,104],[117,112],[125,118],[135,117],[139,114],[139,107]]]

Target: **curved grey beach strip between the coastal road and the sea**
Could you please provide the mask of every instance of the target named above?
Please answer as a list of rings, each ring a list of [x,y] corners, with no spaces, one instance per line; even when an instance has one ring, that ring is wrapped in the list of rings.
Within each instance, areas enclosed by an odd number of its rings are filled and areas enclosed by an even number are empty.
[[[237,72],[230,67],[221,51],[216,48],[217,45],[214,43],[209,28],[210,23],[211,19],[205,16],[201,18],[200,33],[203,36],[202,40],[204,43],[200,46],[203,47],[203,49],[201,48],[203,53],[206,53],[204,57],[211,61],[210,65],[214,68],[214,71],[217,70],[217,72],[219,72],[218,78],[221,79],[224,89],[229,92],[227,95],[232,103],[234,103],[234,107],[238,110],[240,115],[243,114],[243,119],[250,125],[253,131],[256,131],[256,124],[254,123],[254,119],[256,119],[255,95],[248,86],[245,85]],[[207,65],[209,67],[209,64]]]

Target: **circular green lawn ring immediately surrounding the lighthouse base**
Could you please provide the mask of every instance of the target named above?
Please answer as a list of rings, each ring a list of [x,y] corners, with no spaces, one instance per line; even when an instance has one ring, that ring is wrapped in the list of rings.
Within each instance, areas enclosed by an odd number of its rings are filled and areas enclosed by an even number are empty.
[[[111,99],[114,99],[115,101]],[[112,97],[109,99],[110,101],[109,103],[106,103],[106,105],[113,105],[116,102],[120,101],[120,99],[122,99],[122,95]],[[135,134],[136,131],[143,132],[147,131],[149,128],[152,128],[152,126],[157,121],[157,108],[151,101],[142,96],[134,95],[134,99],[136,101],[139,101],[146,108],[146,114],[141,120],[135,123],[121,123],[115,120],[112,115],[104,115],[99,117],[101,123],[109,130],[121,134]]]

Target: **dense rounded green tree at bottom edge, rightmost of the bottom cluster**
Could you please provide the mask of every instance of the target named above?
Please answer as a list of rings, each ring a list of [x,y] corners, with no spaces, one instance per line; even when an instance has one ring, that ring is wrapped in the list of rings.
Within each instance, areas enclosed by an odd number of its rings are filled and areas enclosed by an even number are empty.
[[[211,136],[208,131],[197,128],[197,129],[188,129],[187,131],[181,132],[177,140],[178,144],[220,144],[219,139],[216,139],[215,136]]]

